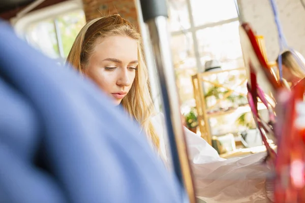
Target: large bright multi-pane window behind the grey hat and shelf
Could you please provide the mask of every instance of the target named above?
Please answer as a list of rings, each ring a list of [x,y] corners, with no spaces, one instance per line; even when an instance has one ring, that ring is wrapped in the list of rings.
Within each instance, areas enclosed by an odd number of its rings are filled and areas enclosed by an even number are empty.
[[[182,106],[193,104],[191,76],[211,59],[243,67],[235,0],[169,0],[173,63]]]

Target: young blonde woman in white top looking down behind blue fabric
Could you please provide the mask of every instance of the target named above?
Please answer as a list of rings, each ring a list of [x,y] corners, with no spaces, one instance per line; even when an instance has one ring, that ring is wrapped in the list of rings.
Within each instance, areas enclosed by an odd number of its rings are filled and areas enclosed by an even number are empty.
[[[89,21],[79,32],[67,62],[91,78],[123,106],[146,132],[165,163],[168,147],[164,122],[149,95],[139,32],[119,15]],[[260,163],[264,153],[225,160],[202,138],[185,128],[198,196],[212,202],[267,202]]]

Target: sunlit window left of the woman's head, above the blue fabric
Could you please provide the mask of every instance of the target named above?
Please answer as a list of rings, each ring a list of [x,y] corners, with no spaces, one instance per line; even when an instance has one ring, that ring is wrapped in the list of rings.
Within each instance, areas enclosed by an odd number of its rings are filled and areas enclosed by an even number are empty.
[[[85,23],[83,10],[75,10],[33,22],[23,30],[22,35],[33,47],[63,63]]]

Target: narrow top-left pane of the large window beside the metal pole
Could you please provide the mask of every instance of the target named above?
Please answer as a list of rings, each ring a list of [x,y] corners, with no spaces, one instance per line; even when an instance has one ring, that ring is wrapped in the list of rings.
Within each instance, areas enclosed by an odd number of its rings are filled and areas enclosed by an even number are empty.
[[[187,0],[169,1],[170,31],[178,31],[190,28],[190,19]]]

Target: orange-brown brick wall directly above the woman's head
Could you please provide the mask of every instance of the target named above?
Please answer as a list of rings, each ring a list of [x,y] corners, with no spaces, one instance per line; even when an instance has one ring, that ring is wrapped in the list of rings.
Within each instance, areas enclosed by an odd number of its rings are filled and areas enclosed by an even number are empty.
[[[103,15],[119,14],[121,17],[137,24],[137,11],[134,0],[82,0],[86,20]]]

